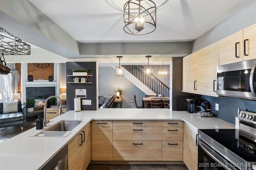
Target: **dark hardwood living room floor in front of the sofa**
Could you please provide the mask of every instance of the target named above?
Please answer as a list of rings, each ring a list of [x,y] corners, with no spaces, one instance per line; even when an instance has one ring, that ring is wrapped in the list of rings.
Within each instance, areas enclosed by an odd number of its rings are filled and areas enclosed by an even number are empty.
[[[31,125],[35,122],[36,117],[32,117],[24,120],[23,129],[20,128],[20,125],[0,128],[0,143],[35,127],[36,125]]]

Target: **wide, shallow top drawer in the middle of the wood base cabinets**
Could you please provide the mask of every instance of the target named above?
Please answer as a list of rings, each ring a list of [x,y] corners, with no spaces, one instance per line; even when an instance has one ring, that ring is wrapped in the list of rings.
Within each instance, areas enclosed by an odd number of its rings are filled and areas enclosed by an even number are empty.
[[[161,127],[162,121],[113,121],[114,127]]]

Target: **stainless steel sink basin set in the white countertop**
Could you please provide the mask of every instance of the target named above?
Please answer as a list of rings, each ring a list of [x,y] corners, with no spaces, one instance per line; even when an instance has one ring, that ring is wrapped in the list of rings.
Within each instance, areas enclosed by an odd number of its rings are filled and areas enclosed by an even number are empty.
[[[44,131],[72,131],[82,120],[62,120],[50,125]]]

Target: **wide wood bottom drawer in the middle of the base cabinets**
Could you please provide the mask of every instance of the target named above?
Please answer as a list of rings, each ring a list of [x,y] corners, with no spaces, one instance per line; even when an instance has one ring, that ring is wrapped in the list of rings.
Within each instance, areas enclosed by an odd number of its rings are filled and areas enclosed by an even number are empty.
[[[113,146],[113,160],[162,160],[162,141],[113,141]]]

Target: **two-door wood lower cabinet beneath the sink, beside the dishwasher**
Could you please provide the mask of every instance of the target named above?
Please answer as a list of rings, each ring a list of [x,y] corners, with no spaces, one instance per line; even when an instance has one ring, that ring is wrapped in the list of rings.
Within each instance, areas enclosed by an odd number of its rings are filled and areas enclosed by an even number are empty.
[[[68,169],[86,169],[91,160],[91,124],[68,143]]]

